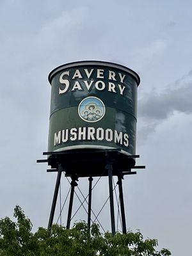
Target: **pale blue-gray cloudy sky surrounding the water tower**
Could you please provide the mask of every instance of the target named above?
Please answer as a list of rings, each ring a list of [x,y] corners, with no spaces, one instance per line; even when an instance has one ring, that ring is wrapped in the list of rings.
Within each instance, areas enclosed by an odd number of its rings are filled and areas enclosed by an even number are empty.
[[[147,168],[125,177],[127,227],[157,238],[175,256],[189,255],[191,1],[0,0],[0,22],[1,217],[19,204],[34,230],[47,227],[56,173],[36,159],[47,150],[49,72],[71,61],[112,61],[141,77],[137,154]],[[94,200],[106,199],[105,182]],[[87,183],[81,186],[86,194]],[[61,187],[64,200],[64,176]],[[110,230],[108,219],[107,206],[100,221]]]

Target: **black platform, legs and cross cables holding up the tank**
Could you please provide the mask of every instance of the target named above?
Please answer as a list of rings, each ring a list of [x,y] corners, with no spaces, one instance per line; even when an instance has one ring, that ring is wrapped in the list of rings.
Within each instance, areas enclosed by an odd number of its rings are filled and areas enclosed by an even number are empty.
[[[119,154],[118,152],[120,152],[120,149],[111,149],[111,150],[92,150],[90,152],[89,151],[84,151],[84,154],[90,154],[91,153],[91,157],[92,156],[97,156],[97,159],[94,159],[94,161],[100,161],[100,158],[102,159],[102,163],[104,162],[104,166],[102,166],[102,172],[99,172],[98,175],[97,173],[93,173],[93,175],[91,175],[90,172],[86,171],[86,172],[82,172],[81,170],[78,172],[76,170],[76,172],[70,172],[68,166],[66,168],[65,164],[70,164],[70,161],[72,161],[72,164],[74,164],[74,158],[76,157],[76,154],[78,154],[78,152],[44,152],[44,155],[49,156],[48,159],[41,159],[41,160],[37,160],[37,163],[48,163],[49,165],[51,165],[51,169],[48,169],[47,172],[57,172],[57,178],[56,178],[56,184],[55,184],[55,189],[54,189],[54,195],[52,198],[52,206],[51,206],[51,212],[50,212],[50,216],[49,216],[49,223],[48,223],[48,228],[51,228],[52,223],[53,223],[53,219],[54,219],[54,212],[56,209],[56,202],[58,200],[58,192],[60,189],[60,184],[61,184],[61,174],[65,172],[65,176],[70,177],[71,182],[68,180],[68,182],[70,182],[70,190],[68,191],[67,196],[70,193],[70,199],[69,199],[69,204],[68,204],[68,216],[67,216],[67,228],[70,228],[70,221],[72,220],[72,218],[74,218],[74,216],[76,215],[77,211],[79,211],[79,209],[81,208],[81,206],[84,204],[84,202],[86,202],[88,204],[88,211],[86,210],[86,208],[84,207],[87,215],[88,215],[88,228],[91,227],[91,221],[92,223],[94,223],[96,220],[99,222],[98,220],[98,216],[100,214],[100,212],[102,211],[102,209],[104,208],[104,206],[106,205],[106,202],[110,203],[110,215],[111,215],[111,232],[112,234],[115,234],[116,230],[115,230],[115,210],[114,210],[114,198],[113,198],[113,191],[115,190],[116,186],[115,184],[113,184],[114,180],[113,180],[113,176],[116,175],[118,177],[118,182],[116,185],[118,185],[118,191],[119,191],[119,201],[120,201],[120,220],[122,223],[122,233],[126,234],[127,232],[127,228],[126,228],[126,220],[125,220],[125,207],[124,207],[124,194],[123,194],[123,188],[122,188],[122,179],[124,179],[124,175],[132,175],[132,174],[136,174],[136,172],[132,172],[132,169],[144,169],[145,166],[135,166],[135,162],[134,159],[140,157],[139,155],[129,155],[126,156],[126,159],[129,160],[128,163],[128,168],[127,171],[125,171],[124,166],[122,166],[123,171],[122,170],[118,170],[118,164],[116,164],[116,162],[118,163],[119,160],[116,161],[116,154]],[[68,155],[72,155],[74,154],[74,157],[68,157]],[[69,159],[69,160],[68,160]],[[69,161],[69,163],[67,162],[67,160]],[[93,161],[93,160],[92,160]],[[77,166],[79,163],[79,159],[77,159]],[[99,162],[100,163],[100,162]],[[129,164],[130,163],[130,164]],[[76,168],[76,165],[74,165]],[[80,169],[82,169],[83,164],[81,164]],[[99,175],[100,174],[100,175]],[[106,200],[106,202],[104,203],[104,205],[102,206],[101,210],[99,211],[99,214],[97,214],[97,216],[95,215],[95,213],[92,211],[92,191],[93,188],[95,188],[97,182],[100,180],[101,177],[103,176],[108,176],[108,182],[109,182],[109,197]],[[81,190],[77,187],[77,181],[80,177],[88,177],[88,182],[89,182],[89,188],[88,188],[88,195],[86,197],[84,197],[83,193],[81,192]],[[93,177],[100,177],[99,180],[97,180],[96,184],[92,187],[92,183],[93,183]],[[78,188],[79,191],[81,192],[81,195],[83,195],[84,201],[81,202],[79,196],[77,195],[75,188]],[[74,193],[77,195],[77,197],[79,198],[81,205],[80,207],[77,209],[76,213],[74,214],[74,216],[72,216],[72,207],[73,207],[73,202],[74,202]],[[115,191],[115,195],[116,195],[116,191]],[[86,200],[86,198],[88,198],[88,202]],[[61,200],[61,196],[60,196],[60,200]],[[66,203],[67,197],[65,199],[65,202],[63,204],[63,207]],[[118,198],[116,196],[116,200],[118,201]],[[119,202],[118,202],[119,204]],[[61,211],[63,211],[63,207],[61,208],[61,202],[60,202],[60,216],[59,218],[61,218]],[[95,220],[93,221],[91,216],[93,215],[95,216]],[[119,215],[119,205],[118,205],[118,215]],[[58,218],[58,220],[59,220]],[[100,224],[100,222],[99,222]],[[118,226],[118,221],[117,221],[117,226]],[[104,228],[102,227],[102,225],[100,224],[100,227],[102,228],[102,230],[104,230]]]

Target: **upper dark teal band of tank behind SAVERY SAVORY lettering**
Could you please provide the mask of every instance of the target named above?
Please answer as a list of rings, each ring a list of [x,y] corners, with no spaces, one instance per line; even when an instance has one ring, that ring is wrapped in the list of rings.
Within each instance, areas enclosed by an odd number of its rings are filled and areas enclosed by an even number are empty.
[[[120,73],[120,70],[116,72],[113,68],[110,68],[108,70],[104,70],[104,79],[103,78],[97,79],[97,77],[95,77],[97,76],[97,72],[95,71],[97,70],[97,67],[89,67],[87,69],[93,70],[93,72],[90,79],[88,79],[87,77],[83,77],[83,74],[84,74],[83,70],[85,68],[86,67],[78,68],[82,78],[77,78],[77,79],[72,79],[72,77],[74,76],[74,72],[75,70],[77,70],[77,68],[70,68],[68,70],[65,70],[69,72],[70,77],[67,74],[64,74],[63,79],[67,79],[70,85],[68,86],[67,92],[60,95],[59,95],[60,88],[61,89],[65,88],[65,86],[59,83],[60,76],[63,72],[60,72],[56,74],[55,77],[53,77],[52,90],[51,90],[51,114],[54,113],[54,111],[60,110],[62,108],[68,108],[70,106],[78,106],[79,100],[81,100],[82,97],[94,95],[94,96],[100,97],[101,100],[104,100],[106,102],[106,106],[109,106],[111,108],[122,109],[123,111],[126,111],[136,116],[137,84],[132,77],[126,76],[125,72]],[[116,81],[113,79],[109,80],[108,79],[109,71],[116,72],[117,74],[120,73],[122,74],[122,76],[125,76],[124,83],[121,83],[119,76],[114,77]],[[98,86],[98,88],[102,89],[102,82],[105,85],[103,86],[104,89],[97,90],[97,88],[95,88],[95,84],[96,86]],[[77,86],[79,85],[79,88],[81,88],[82,90],[77,90],[77,89],[73,90],[75,83],[77,84]],[[122,90],[123,90],[123,95],[121,94]]]

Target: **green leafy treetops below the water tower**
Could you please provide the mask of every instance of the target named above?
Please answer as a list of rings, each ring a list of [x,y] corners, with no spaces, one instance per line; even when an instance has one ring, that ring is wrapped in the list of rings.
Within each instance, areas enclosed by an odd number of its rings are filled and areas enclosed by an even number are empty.
[[[143,239],[140,232],[100,234],[99,226],[89,230],[85,222],[67,230],[52,225],[51,230],[38,228],[33,234],[32,223],[19,206],[14,209],[17,222],[6,217],[0,220],[0,256],[168,256],[169,250],[156,251],[156,239]]]

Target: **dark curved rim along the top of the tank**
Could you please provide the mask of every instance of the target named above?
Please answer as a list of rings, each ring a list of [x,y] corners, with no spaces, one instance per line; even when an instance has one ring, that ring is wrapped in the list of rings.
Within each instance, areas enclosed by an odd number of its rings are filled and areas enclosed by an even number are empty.
[[[121,70],[124,70],[125,72],[129,73],[132,77],[134,77],[134,80],[136,81],[137,85],[139,86],[140,84],[140,76],[131,68],[127,68],[124,65],[118,64],[118,63],[113,63],[109,61],[98,61],[98,60],[84,60],[84,61],[74,61],[74,62],[69,62],[65,63],[63,65],[60,65],[56,68],[54,68],[48,76],[48,81],[51,84],[52,77],[55,76],[58,72],[65,68],[71,68],[71,67],[81,67],[81,66],[91,66],[91,65],[96,65],[96,66],[103,66],[103,67],[112,67],[112,68],[119,68]]]

